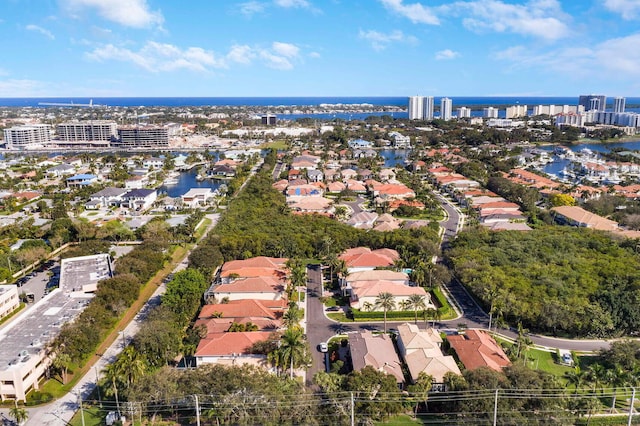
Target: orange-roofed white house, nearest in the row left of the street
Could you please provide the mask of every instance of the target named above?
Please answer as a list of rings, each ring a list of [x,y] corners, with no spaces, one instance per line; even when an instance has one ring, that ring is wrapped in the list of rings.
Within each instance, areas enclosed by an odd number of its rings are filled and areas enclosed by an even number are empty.
[[[196,349],[196,365],[267,365],[267,356],[252,354],[251,347],[271,337],[271,332],[249,331],[234,333],[211,333],[200,340]]]

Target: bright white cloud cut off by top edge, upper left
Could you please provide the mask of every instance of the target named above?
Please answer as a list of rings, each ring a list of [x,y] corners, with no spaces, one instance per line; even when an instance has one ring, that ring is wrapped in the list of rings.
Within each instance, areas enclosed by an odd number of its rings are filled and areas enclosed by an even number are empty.
[[[147,28],[161,26],[160,11],[149,8],[146,0],[60,0],[72,12],[95,9],[103,18],[126,27]]]

